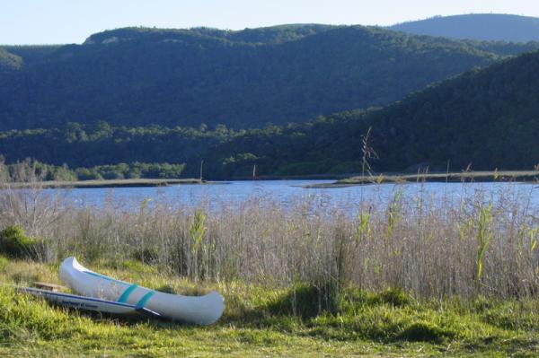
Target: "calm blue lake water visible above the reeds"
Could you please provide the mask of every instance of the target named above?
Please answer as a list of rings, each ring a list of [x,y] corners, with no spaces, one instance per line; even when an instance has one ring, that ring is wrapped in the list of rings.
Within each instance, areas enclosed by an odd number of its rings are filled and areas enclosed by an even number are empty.
[[[249,200],[271,202],[284,208],[308,201],[311,205],[337,207],[354,212],[361,199],[377,204],[388,203],[395,196],[410,200],[422,197],[437,205],[451,201],[476,200],[499,202],[505,199],[521,201],[539,210],[539,185],[523,183],[424,183],[382,184],[349,188],[301,188],[305,184],[327,183],[331,180],[260,180],[234,181],[216,185],[179,185],[164,188],[77,188],[50,189],[49,193],[65,196],[75,205],[112,205],[118,209],[138,209],[161,203],[171,207],[241,205]]]

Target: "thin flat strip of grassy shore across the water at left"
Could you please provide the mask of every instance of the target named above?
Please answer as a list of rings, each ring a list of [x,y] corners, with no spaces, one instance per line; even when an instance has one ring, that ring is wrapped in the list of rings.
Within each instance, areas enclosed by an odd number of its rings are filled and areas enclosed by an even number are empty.
[[[0,188],[144,188],[171,187],[183,184],[213,184],[200,179],[111,179],[77,181],[34,181],[29,183],[6,183]]]

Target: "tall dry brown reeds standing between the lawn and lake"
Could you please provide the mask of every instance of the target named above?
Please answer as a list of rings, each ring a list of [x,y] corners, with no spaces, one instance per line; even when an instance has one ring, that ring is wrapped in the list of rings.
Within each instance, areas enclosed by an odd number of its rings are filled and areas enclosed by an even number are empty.
[[[331,300],[350,285],[418,298],[539,292],[539,214],[511,190],[496,202],[482,193],[435,200],[397,190],[387,203],[358,203],[354,215],[255,197],[218,209],[164,200],[93,208],[48,193],[0,192],[0,229],[17,223],[42,238],[43,260],[140,259],[193,280],[311,284]]]

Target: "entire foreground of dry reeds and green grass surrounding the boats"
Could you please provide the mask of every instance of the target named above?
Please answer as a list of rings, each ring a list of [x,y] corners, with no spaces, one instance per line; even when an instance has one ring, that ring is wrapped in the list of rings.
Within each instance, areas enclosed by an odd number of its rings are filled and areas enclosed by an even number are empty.
[[[533,357],[539,208],[518,188],[495,201],[397,190],[353,214],[316,198],[121,209],[3,190],[0,281],[59,284],[59,262],[75,255],[165,292],[216,289],[225,315],[211,327],[100,317],[4,287],[0,354]]]

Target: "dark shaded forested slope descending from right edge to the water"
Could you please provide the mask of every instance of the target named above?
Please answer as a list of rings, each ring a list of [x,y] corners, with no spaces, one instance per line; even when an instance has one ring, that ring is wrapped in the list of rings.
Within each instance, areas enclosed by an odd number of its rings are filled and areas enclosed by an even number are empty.
[[[357,172],[361,138],[371,127],[379,156],[374,170],[446,170],[448,163],[452,170],[533,170],[537,99],[539,52],[468,72],[385,109],[252,131],[215,148],[215,165],[225,176],[247,175],[254,163],[271,174]]]

